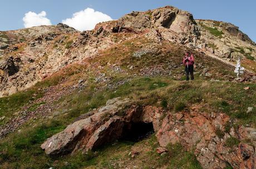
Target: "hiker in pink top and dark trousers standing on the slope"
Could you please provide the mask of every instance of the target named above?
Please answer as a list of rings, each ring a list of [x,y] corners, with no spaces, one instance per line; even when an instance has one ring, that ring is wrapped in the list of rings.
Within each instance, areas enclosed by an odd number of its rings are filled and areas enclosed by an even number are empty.
[[[185,66],[186,72],[186,81],[189,81],[189,74],[191,76],[191,80],[194,80],[194,54],[186,52],[185,57],[183,58],[183,65]]]

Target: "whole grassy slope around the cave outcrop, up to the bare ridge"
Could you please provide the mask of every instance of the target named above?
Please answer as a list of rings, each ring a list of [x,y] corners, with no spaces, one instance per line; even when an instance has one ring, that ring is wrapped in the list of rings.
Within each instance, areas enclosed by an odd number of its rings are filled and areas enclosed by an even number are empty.
[[[141,40],[141,39],[140,39]],[[147,43],[146,41],[144,43]],[[196,76],[196,81],[187,83],[176,80],[183,67],[173,70],[172,77],[142,77],[138,74],[140,69],[146,66],[163,65],[168,66],[169,62],[180,63],[180,55],[184,49],[164,44],[161,51],[154,54],[146,54],[142,58],[132,57],[132,53],[141,48],[141,42],[125,42],[116,48],[101,53],[100,57],[90,62],[91,67],[74,65],[65,71],[56,73],[51,78],[38,83],[34,88],[26,92],[18,93],[11,97],[0,98],[4,105],[2,115],[14,116],[13,113],[23,105],[28,104],[35,96],[42,97],[43,93],[37,93],[38,88],[63,83],[63,86],[72,86],[77,79],[83,78],[87,81],[87,87],[82,91],[76,90],[70,95],[62,97],[56,104],[54,112],[61,112],[58,115],[51,115],[51,118],[28,121],[20,131],[9,134],[0,141],[0,163],[2,168],[124,168],[125,165],[137,165],[141,168],[200,168],[193,156],[193,153],[183,151],[180,145],[170,146],[168,155],[160,156],[155,153],[157,142],[154,136],[141,142],[131,143],[120,141],[114,145],[101,148],[99,151],[90,152],[87,155],[77,153],[74,156],[63,156],[52,158],[45,155],[40,145],[46,138],[60,132],[78,116],[87,113],[93,108],[98,108],[107,100],[115,97],[130,97],[141,105],[161,106],[170,111],[179,111],[188,108],[193,104],[203,104],[205,112],[225,112],[240,123],[249,124],[255,127],[256,118],[253,112],[246,113],[248,107],[254,107],[256,102],[256,84],[244,84],[233,82],[208,81],[203,77]],[[118,51],[118,52],[117,52]],[[113,57],[115,56],[115,57]],[[232,77],[229,73],[232,68],[223,63],[211,62],[210,58],[197,55],[198,62],[204,63],[205,67],[213,67],[211,73],[216,79]],[[199,59],[200,58],[200,59]],[[171,61],[170,61],[171,60]],[[168,62],[169,61],[169,62]],[[113,72],[107,66],[110,64],[120,65],[125,73]],[[127,68],[127,65],[134,64],[134,69]],[[102,68],[99,70],[98,66]],[[93,69],[96,67],[96,69]],[[200,69],[199,69],[200,70]],[[95,74],[100,71],[111,77],[109,82],[95,83]],[[136,76],[134,74],[137,74]],[[221,76],[221,77],[219,77]],[[125,81],[117,86],[117,82]],[[114,88],[102,88],[105,84],[112,84]],[[250,90],[244,90],[244,87]],[[41,90],[40,90],[41,91]],[[37,95],[33,95],[33,94]],[[21,99],[20,98],[25,98]],[[8,102],[9,101],[9,102]],[[4,104],[4,103],[8,104]],[[13,107],[16,105],[16,108]],[[8,113],[6,113],[8,112]],[[50,116],[50,115],[49,115]],[[140,151],[140,155],[134,159],[128,154],[133,150]],[[120,165],[120,166],[119,166]]]

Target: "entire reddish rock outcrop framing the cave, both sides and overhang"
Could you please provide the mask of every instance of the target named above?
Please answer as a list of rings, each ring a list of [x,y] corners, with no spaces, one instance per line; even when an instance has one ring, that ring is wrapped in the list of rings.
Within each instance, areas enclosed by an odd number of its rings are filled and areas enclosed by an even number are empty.
[[[171,113],[159,107],[135,106],[129,100],[115,98],[91,112],[91,116],[83,116],[86,118],[48,138],[41,147],[48,155],[94,150],[121,138],[132,123],[144,122],[154,126],[161,146],[157,152],[167,151],[165,147],[170,143],[181,143],[187,151],[194,151],[203,168],[225,168],[228,163],[233,168],[255,168],[256,130],[239,126],[227,131],[225,126],[232,122],[227,115],[200,112],[199,108],[193,106],[190,112]],[[230,145],[229,140],[237,142]]]

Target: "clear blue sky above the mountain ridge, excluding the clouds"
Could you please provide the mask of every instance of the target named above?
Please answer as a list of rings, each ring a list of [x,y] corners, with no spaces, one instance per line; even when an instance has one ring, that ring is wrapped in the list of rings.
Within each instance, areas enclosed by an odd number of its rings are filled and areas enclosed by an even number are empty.
[[[40,13],[45,11],[52,24],[62,22],[63,19],[72,18],[72,14],[88,7],[118,19],[131,11],[146,11],[171,5],[191,12],[194,18],[214,19],[225,21],[239,26],[256,41],[256,1],[255,0],[8,0],[1,3],[0,30],[23,28],[24,14],[32,11]]]

